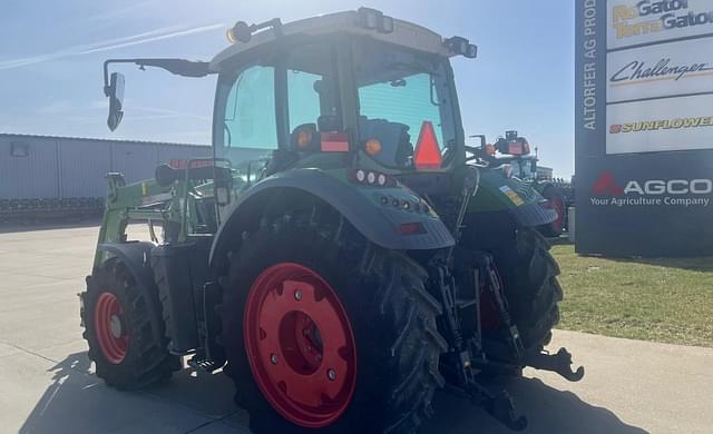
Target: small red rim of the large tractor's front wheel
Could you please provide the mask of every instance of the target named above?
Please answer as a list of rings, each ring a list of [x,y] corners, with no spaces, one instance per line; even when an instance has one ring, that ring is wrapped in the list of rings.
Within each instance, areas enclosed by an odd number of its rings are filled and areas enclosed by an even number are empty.
[[[94,324],[104,357],[115,365],[124,362],[129,347],[129,337],[126,333],[124,306],[114,294],[99,295],[95,305]]]

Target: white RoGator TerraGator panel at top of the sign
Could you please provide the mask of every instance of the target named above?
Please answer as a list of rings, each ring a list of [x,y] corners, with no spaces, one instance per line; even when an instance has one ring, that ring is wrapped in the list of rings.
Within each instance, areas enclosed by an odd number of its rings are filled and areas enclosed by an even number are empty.
[[[688,0],[643,0],[634,6],[617,4],[612,8],[612,26],[619,39],[711,24],[713,24],[713,11],[690,10]]]

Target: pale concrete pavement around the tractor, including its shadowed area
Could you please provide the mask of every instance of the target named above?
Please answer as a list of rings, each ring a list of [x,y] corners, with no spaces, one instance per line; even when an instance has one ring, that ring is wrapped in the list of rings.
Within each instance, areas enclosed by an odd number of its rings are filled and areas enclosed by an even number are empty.
[[[98,228],[0,228],[0,433],[250,433],[223,374],[183,371],[117,392],[92,374],[79,327]],[[682,313],[683,315],[683,313]],[[508,384],[527,433],[711,433],[713,348],[555,333],[585,378],[526,369]],[[423,433],[510,433],[440,393]]]

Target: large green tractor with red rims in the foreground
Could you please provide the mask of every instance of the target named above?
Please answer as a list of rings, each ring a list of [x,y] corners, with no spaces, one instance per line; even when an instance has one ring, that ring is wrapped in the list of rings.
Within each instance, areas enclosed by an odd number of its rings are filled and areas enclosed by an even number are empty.
[[[99,377],[222,369],[255,433],[413,433],[441,388],[520,430],[485,381],[582,377],[543,349],[563,292],[536,228],[555,213],[465,144],[449,58],[476,46],[367,8],[228,39],[209,62],[105,62],[113,130],[116,63],[217,75],[217,90],[212,158],[108,175],[81,294]],[[127,239],[136,220],[150,239]]]

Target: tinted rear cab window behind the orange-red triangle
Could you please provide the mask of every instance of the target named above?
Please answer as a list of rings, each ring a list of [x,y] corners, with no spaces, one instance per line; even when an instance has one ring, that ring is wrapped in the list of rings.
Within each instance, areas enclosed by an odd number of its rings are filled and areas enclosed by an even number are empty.
[[[360,140],[381,142],[372,158],[411,168],[419,135],[430,122],[446,166],[456,144],[447,60],[367,38],[355,41],[353,52]]]

